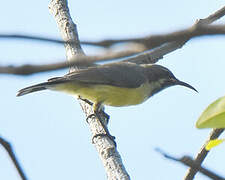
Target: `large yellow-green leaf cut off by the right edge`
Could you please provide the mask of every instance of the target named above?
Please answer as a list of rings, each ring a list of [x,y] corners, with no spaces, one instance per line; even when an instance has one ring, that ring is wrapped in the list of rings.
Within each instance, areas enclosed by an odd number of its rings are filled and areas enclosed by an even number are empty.
[[[197,128],[225,128],[225,96],[210,104],[196,122]]]

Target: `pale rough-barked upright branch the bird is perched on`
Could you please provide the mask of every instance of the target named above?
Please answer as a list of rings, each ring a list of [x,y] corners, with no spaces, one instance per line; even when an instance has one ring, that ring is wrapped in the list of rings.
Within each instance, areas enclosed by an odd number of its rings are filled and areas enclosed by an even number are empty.
[[[49,10],[55,17],[64,41],[76,41],[74,44],[66,44],[66,54],[68,60],[74,59],[77,55],[85,56],[79,43],[76,25],[73,23],[66,0],[51,0]],[[76,68],[70,71],[76,71]],[[93,114],[92,107],[83,101],[80,101],[81,107],[87,117]],[[96,117],[89,118],[89,125],[92,135],[103,134],[103,128]],[[103,119],[103,117],[102,117]],[[129,175],[122,164],[121,157],[114,143],[106,136],[98,136],[95,140],[95,147],[103,162],[108,179],[129,179]]]

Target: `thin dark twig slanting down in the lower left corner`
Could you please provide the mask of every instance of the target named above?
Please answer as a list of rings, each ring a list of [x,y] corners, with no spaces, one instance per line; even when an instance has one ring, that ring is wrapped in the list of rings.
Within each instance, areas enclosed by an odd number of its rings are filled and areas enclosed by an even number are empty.
[[[0,137],[0,144],[5,148],[5,150],[9,154],[9,157],[11,158],[14,166],[16,167],[16,170],[19,173],[21,179],[27,180],[25,172],[23,171],[22,166],[20,165],[19,161],[17,160],[17,157],[16,157],[16,155],[14,153],[14,150],[12,148],[12,145],[8,141],[3,139],[2,137]]]

